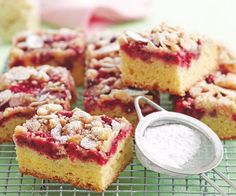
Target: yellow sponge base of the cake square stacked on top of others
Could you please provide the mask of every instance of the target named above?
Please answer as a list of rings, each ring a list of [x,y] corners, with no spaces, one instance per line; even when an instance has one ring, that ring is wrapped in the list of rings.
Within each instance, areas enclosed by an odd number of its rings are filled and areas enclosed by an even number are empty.
[[[121,59],[122,80],[126,85],[184,95],[192,85],[218,68],[218,48],[214,43],[204,43],[199,58],[192,60],[189,68],[166,64],[155,58],[145,62],[124,51],[121,51]]]

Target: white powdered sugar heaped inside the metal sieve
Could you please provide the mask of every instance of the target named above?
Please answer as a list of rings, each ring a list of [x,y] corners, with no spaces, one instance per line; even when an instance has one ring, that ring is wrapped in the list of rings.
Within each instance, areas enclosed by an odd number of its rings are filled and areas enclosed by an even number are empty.
[[[144,134],[142,145],[154,161],[181,169],[197,154],[201,137],[190,127],[165,124],[149,127]]]

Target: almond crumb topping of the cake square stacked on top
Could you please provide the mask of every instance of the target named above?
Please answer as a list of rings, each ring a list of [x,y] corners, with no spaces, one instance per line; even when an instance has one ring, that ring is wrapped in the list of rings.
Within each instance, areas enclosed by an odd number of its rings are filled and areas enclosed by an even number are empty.
[[[126,31],[119,38],[120,45],[138,42],[144,44],[144,50],[151,52],[180,52],[197,51],[201,37],[196,34],[186,33],[179,27],[162,23],[160,26],[143,33]]]

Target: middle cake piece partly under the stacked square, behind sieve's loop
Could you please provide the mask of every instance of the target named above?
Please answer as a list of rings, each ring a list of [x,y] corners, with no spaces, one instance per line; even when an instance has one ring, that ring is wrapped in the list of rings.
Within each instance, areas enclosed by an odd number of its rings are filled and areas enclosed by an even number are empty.
[[[159,93],[129,88],[121,81],[118,36],[97,34],[87,47],[84,108],[94,115],[124,116],[135,126],[138,118],[134,98],[143,95],[159,103]],[[148,114],[154,109],[143,103],[142,111]]]

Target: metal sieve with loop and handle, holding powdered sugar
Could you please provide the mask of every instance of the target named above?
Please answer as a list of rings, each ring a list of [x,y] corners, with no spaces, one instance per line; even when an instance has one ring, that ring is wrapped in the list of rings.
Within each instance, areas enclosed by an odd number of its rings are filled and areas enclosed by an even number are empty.
[[[139,105],[140,100],[145,101],[147,104],[157,110],[148,114],[142,115]],[[180,114],[177,112],[169,112],[160,107],[158,104],[149,100],[144,96],[138,96],[135,99],[135,109],[139,118],[139,123],[135,130],[135,150],[139,161],[146,168],[175,177],[185,177],[189,175],[200,175],[205,179],[215,190],[222,195],[227,195],[218,185],[216,185],[210,178],[207,177],[205,172],[213,170],[225,182],[236,189],[236,184],[230,181],[222,172],[218,171],[216,167],[220,164],[223,158],[223,145],[219,137],[204,123],[192,118],[190,116]],[[180,124],[191,128],[201,138],[201,145],[196,154],[181,168],[172,167],[169,164],[161,162],[161,157],[153,157],[153,154],[143,146],[145,133],[153,127],[168,126],[170,124]],[[168,147],[168,146],[167,146]],[[174,153],[174,152],[173,152]]]

